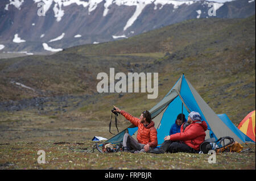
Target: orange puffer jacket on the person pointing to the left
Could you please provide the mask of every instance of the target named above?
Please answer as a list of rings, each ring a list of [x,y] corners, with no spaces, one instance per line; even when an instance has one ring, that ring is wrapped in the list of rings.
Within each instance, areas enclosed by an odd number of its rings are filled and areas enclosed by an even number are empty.
[[[125,111],[120,112],[127,120],[131,122],[131,124],[138,127],[137,140],[140,144],[149,144],[150,147],[155,147],[158,145],[158,137],[157,132],[154,127],[155,123],[151,120],[150,124],[147,127],[144,127],[144,124],[141,123],[141,119],[137,117],[131,116],[129,113]]]

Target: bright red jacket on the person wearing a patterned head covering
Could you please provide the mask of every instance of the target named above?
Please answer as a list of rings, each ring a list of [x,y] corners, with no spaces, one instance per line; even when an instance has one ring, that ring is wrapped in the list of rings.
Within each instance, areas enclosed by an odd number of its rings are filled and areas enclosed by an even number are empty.
[[[206,136],[205,131],[207,130],[207,123],[205,121],[192,121],[192,123],[185,128],[184,132],[183,124],[180,127],[180,133],[172,134],[170,140],[183,141],[191,148],[199,150]]]

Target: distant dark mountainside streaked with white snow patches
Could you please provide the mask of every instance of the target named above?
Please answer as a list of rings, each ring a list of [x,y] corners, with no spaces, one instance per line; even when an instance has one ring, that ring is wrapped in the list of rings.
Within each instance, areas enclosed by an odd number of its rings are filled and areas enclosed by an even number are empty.
[[[209,16],[209,1],[4,0],[0,3],[1,57],[52,54],[76,45],[125,39],[188,19],[255,14],[254,1],[222,2],[213,2],[216,16]],[[38,15],[38,3],[44,3],[45,16]]]

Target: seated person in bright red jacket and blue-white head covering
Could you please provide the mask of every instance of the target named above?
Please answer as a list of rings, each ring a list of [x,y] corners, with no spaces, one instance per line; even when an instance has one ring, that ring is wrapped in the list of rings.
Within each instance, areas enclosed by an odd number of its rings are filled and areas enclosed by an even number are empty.
[[[199,153],[200,145],[205,140],[207,123],[201,121],[198,112],[192,111],[188,115],[187,123],[183,123],[180,133],[172,134],[164,138],[160,151],[177,153]]]

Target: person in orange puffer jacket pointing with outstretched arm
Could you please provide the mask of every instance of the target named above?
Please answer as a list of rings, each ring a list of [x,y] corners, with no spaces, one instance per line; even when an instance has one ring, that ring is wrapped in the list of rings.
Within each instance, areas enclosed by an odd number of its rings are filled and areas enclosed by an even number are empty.
[[[130,115],[129,113],[115,107],[115,110],[123,115],[131,124],[138,127],[137,140],[125,133],[123,136],[123,150],[129,151],[133,149],[135,152],[148,152],[158,145],[158,137],[155,129],[155,123],[151,120],[151,114],[148,111],[143,111],[139,118]]]

